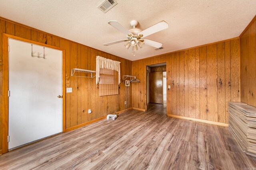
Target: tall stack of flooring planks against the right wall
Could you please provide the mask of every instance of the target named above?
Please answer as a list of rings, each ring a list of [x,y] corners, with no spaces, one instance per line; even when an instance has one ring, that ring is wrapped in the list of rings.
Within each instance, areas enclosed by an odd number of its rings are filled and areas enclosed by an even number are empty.
[[[256,107],[229,102],[229,127],[242,149],[256,156]]]

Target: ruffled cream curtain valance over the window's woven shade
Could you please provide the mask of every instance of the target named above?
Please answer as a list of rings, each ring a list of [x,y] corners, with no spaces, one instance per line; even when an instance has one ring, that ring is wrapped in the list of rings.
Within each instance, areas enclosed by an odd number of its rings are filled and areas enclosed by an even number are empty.
[[[96,56],[96,84],[99,83],[100,68],[116,70],[118,72],[118,84],[120,84],[121,82],[120,63],[121,62],[119,61],[114,61],[114,60],[106,59],[104,57]]]

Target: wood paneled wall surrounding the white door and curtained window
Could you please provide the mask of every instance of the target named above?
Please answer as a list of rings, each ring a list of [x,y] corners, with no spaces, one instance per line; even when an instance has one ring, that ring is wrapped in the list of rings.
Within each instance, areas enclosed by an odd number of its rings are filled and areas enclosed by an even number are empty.
[[[66,87],[72,87],[72,93],[66,93],[66,129],[103,117],[115,111],[132,107],[132,86],[126,87],[121,81],[119,95],[98,96],[95,78],[70,76],[72,68],[96,69],[96,56],[120,61],[122,75],[131,75],[132,61],[104,53],[85,45],[69,41],[31,27],[0,19],[0,60],[2,63],[2,33],[15,35],[32,41],[45,43],[66,50]],[[57,97],[57,96],[56,96]],[[127,101],[127,104],[124,104]],[[2,66],[0,66],[0,150],[2,149]],[[92,113],[88,114],[88,109]]]

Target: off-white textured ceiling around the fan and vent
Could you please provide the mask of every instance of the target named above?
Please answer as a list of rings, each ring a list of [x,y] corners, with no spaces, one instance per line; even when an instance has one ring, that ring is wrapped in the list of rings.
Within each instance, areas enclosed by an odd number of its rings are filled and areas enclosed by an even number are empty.
[[[117,0],[106,14],[97,8],[101,2],[0,0],[0,16],[134,61],[238,37],[256,14],[256,0]],[[138,20],[142,30],[167,21],[168,29],[147,37],[163,43],[164,49],[145,45],[134,57],[125,43],[102,45],[126,38],[110,20],[128,29],[130,20]]]

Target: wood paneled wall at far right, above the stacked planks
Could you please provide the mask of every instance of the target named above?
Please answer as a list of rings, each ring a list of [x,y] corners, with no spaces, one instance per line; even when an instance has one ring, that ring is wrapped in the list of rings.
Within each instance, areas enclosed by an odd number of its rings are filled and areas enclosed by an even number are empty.
[[[241,102],[256,107],[256,16],[240,36]]]

